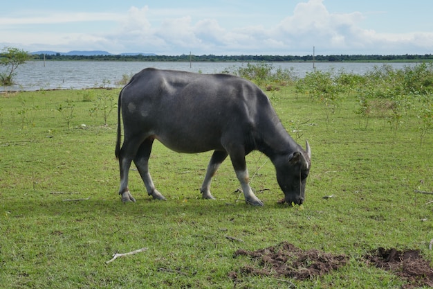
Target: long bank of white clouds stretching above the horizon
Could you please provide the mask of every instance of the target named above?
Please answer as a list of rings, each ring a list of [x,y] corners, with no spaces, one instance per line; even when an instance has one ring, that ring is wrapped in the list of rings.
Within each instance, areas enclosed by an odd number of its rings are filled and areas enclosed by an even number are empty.
[[[204,10],[202,10],[203,12]],[[432,53],[433,33],[377,33],[360,28],[360,12],[331,13],[324,0],[298,3],[292,15],[274,26],[257,21],[255,26],[228,27],[220,12],[152,10],[131,7],[127,13],[54,13],[30,18],[1,18],[0,39],[26,47],[62,51],[102,49],[112,53],[153,52],[194,54],[320,54]],[[371,17],[371,15],[369,16]],[[194,19],[194,20],[193,20]],[[91,26],[80,27],[92,21]],[[73,23],[75,30],[48,32],[46,24]],[[239,21],[241,23],[241,21]],[[15,33],[17,27],[38,25],[44,29]],[[100,25],[103,24],[103,25]],[[63,26],[62,26],[63,27]],[[86,27],[89,29],[86,30]],[[101,28],[99,28],[101,27]],[[115,27],[115,28],[113,28]],[[30,29],[30,28],[29,28]],[[32,28],[33,29],[33,28]],[[66,29],[66,26],[65,26]],[[98,30],[99,29],[99,30]],[[405,51],[403,51],[405,49]]]

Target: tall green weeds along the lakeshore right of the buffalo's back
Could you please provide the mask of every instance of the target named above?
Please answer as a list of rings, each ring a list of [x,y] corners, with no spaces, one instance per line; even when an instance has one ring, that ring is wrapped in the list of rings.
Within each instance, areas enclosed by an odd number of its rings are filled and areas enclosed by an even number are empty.
[[[340,71],[315,70],[306,73],[302,79],[293,76],[293,71],[273,69],[272,64],[250,64],[234,71],[224,71],[247,78],[264,87],[267,91],[275,91],[286,85],[295,88],[295,96],[306,95],[310,100],[324,105],[326,123],[330,116],[340,110],[345,98],[355,94],[358,104],[355,114],[365,119],[365,129],[369,125],[371,116],[378,114],[385,117],[389,123],[394,139],[398,129],[405,121],[405,116],[416,110],[421,120],[421,142],[425,134],[431,132],[429,105],[432,103],[433,91],[433,63],[421,63],[414,67],[393,69],[390,65],[374,67],[364,75],[356,75]],[[275,98],[273,92],[270,98]],[[415,105],[422,101],[423,105]],[[295,122],[296,123],[296,122]],[[297,128],[294,128],[298,131]]]

